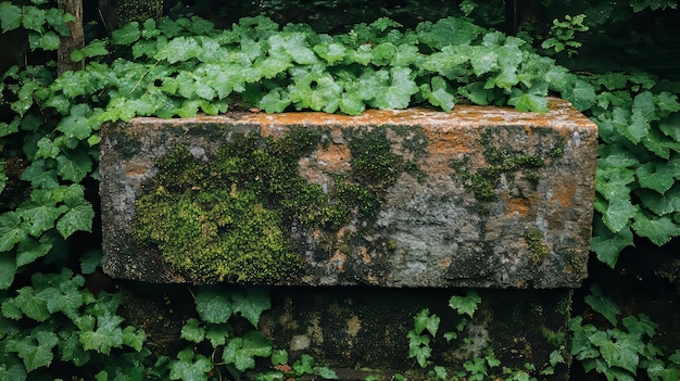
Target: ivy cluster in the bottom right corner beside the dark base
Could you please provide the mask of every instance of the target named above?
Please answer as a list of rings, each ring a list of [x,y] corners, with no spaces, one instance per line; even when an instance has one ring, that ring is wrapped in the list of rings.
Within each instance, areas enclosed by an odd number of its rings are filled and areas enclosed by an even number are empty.
[[[574,334],[571,355],[587,372],[604,374],[608,381],[633,381],[644,372],[653,381],[671,381],[680,377],[680,351],[666,357],[654,344],[657,325],[646,315],[618,319],[620,309],[597,285],[591,288],[585,303],[607,322],[599,328],[583,323],[583,317],[571,319]]]

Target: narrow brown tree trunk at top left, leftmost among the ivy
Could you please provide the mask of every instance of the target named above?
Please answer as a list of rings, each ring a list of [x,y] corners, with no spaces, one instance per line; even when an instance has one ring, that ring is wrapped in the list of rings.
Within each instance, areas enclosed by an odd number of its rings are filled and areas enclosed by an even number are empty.
[[[56,73],[61,75],[67,71],[78,71],[85,67],[85,61],[73,62],[71,60],[71,53],[74,50],[85,47],[85,31],[83,30],[83,0],[59,0],[59,8],[76,18],[66,24],[71,36],[62,37],[56,52]]]

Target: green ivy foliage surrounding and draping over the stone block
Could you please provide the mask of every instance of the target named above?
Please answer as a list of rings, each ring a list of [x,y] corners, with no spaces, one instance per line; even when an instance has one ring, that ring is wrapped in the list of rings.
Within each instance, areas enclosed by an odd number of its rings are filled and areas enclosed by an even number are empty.
[[[336,2],[319,3],[332,9]],[[25,30],[34,51],[58,49],[67,35],[65,23],[73,17],[53,5],[43,0],[0,2],[2,33]],[[279,2],[266,5],[276,11]],[[614,267],[635,237],[666,244],[680,236],[680,86],[641,73],[577,74],[555,58],[570,62],[589,25],[594,29],[621,14],[672,5],[633,1],[632,10],[626,5],[621,11],[603,2],[593,8],[600,13],[583,10],[585,16],[561,17],[550,30],[532,33],[525,24],[517,37],[461,17],[413,28],[378,18],[333,35],[304,24],[280,26],[263,16],[241,18],[229,29],[198,16],[164,17],[127,24],[110,38],[91,40],[72,55],[88,62],[83,71],[56,76],[50,61],[13,66],[0,84],[0,376],[21,380],[28,372],[48,373],[47,367],[55,363],[87,364],[91,368],[86,371],[97,373],[98,380],[125,371],[129,379],[144,372],[160,379],[202,379],[212,369],[210,359],[191,348],[174,359],[154,358],[143,348],[144,333],[117,315],[119,295],[96,294],[85,284],[100,254],[96,244],[85,252],[77,249],[73,238],[91,231],[96,221],[90,193],[98,180],[98,131],[105,122],[252,107],[351,115],[366,107],[416,104],[451,110],[462,101],[542,112],[545,96],[555,93],[600,127],[592,241],[599,259]],[[463,1],[459,10],[474,20],[489,14],[474,1]],[[237,336],[221,326],[226,320],[211,320],[212,302],[252,308],[242,295],[228,301],[212,295],[206,304],[201,301],[207,296],[201,295],[212,294],[207,290],[197,295],[202,320],[187,322],[184,339],[221,347],[224,364],[235,372],[251,368],[254,356],[276,357],[255,333]],[[256,297],[253,305],[264,305]],[[252,312],[238,308],[235,313],[249,319]],[[617,363],[607,343],[626,334],[640,341],[653,330],[643,317],[624,325],[628,331],[593,339],[595,331],[576,321],[572,330],[582,334],[582,345],[577,346],[582,352],[574,354],[583,359],[601,355],[605,363],[584,363],[599,371],[612,372],[614,366],[622,369],[617,368],[617,374],[630,373],[631,363]],[[641,347],[634,355],[654,357],[653,350]],[[122,363],[112,364],[111,351],[125,354]],[[416,352],[414,357],[425,364]],[[643,365],[652,379],[666,380],[653,373],[656,363]],[[332,377],[308,358],[299,370]],[[669,372],[667,377],[677,374]]]

